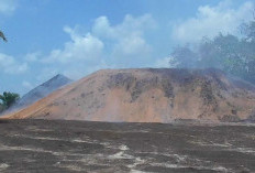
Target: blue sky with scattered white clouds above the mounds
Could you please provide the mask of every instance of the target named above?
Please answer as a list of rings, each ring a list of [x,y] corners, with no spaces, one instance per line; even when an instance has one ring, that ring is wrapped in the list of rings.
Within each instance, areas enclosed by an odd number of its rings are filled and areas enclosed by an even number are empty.
[[[254,0],[0,0],[0,91],[24,94],[60,73],[167,67],[174,46],[239,34]]]

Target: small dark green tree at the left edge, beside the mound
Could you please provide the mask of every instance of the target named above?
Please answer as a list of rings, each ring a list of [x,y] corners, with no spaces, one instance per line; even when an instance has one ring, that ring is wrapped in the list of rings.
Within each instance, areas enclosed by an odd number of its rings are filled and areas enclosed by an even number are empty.
[[[4,108],[9,108],[18,99],[20,99],[20,95],[15,93],[4,91],[3,95],[0,95],[1,105]]]

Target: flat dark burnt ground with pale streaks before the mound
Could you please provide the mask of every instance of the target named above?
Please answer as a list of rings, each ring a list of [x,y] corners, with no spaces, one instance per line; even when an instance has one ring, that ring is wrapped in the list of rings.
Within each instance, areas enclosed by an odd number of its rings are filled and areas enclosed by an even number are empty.
[[[1,120],[0,172],[255,172],[255,126]]]

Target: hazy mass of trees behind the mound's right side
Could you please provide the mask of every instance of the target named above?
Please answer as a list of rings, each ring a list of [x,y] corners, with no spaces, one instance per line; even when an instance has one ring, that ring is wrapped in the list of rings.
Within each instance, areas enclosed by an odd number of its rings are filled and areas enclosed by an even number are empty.
[[[196,47],[176,47],[170,62],[176,67],[220,68],[255,84],[255,19],[241,28],[243,37],[218,34],[203,37]]]

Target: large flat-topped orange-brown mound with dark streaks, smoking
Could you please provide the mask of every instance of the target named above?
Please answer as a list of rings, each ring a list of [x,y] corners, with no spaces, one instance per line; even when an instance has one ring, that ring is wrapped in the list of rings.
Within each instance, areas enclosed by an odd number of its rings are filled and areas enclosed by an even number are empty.
[[[104,69],[8,118],[169,122],[254,117],[255,87],[215,69]]]

